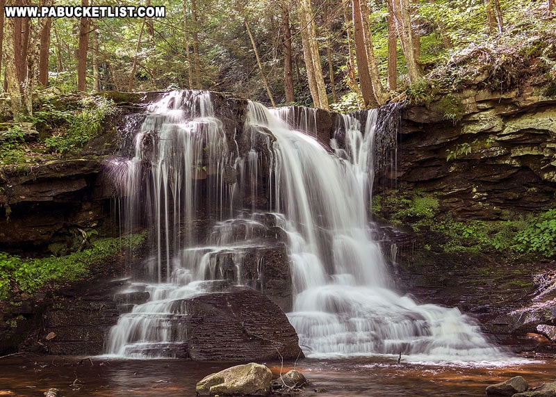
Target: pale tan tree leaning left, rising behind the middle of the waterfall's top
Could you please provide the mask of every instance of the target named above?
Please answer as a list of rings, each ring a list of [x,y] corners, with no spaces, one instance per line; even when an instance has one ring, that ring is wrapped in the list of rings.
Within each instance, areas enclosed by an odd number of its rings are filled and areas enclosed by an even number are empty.
[[[297,14],[300,17],[300,33],[303,44],[303,57],[307,79],[309,79],[309,90],[313,97],[316,108],[328,110],[328,98],[326,95],[325,79],[322,76],[320,66],[320,55],[316,35],[315,21],[311,11],[311,0],[297,0]]]

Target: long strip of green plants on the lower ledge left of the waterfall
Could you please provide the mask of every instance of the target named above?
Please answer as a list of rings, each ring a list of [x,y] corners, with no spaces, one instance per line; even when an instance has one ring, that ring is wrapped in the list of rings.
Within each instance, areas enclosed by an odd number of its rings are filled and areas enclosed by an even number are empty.
[[[95,266],[118,254],[122,248],[134,250],[145,241],[146,233],[120,238],[99,238],[92,248],[64,257],[22,258],[0,252],[0,300],[12,291],[33,293],[48,282],[68,282],[87,277]]]

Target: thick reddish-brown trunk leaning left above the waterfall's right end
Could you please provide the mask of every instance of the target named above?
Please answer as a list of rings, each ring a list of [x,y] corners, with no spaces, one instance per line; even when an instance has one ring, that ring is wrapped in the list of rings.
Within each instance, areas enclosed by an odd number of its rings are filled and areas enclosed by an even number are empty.
[[[355,56],[357,57],[357,74],[359,75],[359,85],[361,86],[361,95],[363,95],[363,104],[366,108],[370,106],[377,106],[378,101],[375,97],[375,92],[373,92],[373,83],[370,80],[359,0],[352,0],[352,15]]]

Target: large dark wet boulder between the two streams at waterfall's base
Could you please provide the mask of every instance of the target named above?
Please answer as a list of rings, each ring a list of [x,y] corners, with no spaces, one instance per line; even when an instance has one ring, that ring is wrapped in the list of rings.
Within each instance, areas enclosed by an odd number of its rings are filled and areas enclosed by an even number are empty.
[[[231,287],[183,300],[188,357],[250,361],[304,357],[286,314],[262,293]]]

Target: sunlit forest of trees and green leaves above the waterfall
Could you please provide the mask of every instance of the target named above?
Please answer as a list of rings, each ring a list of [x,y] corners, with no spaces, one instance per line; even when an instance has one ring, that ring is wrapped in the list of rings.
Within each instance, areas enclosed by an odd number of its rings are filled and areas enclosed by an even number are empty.
[[[60,4],[41,0],[40,5]],[[130,0],[125,5],[164,6],[165,17],[2,13],[0,79],[16,121],[33,115],[33,92],[44,90],[208,89],[273,106],[352,111],[397,100],[403,92],[423,102],[430,92],[459,90],[484,71],[493,90],[506,90],[518,79],[556,81],[554,0]]]

